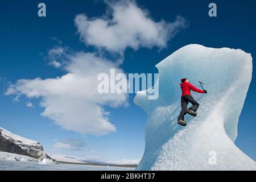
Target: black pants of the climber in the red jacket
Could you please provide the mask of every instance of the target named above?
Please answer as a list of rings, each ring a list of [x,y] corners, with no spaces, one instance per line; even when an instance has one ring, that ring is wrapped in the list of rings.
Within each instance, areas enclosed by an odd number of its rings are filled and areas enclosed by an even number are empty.
[[[199,103],[196,102],[196,100],[192,96],[185,95],[181,97],[181,111],[178,120],[182,119],[184,121],[184,115],[188,113],[188,102],[193,105],[192,107],[189,107],[189,109],[191,109],[192,111],[196,111],[198,109]]]

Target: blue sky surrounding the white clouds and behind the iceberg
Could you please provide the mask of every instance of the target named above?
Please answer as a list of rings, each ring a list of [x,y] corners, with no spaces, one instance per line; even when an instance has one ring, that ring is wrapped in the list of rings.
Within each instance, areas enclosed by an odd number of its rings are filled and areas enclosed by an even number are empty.
[[[133,104],[134,94],[127,98],[129,106],[118,108],[104,106],[109,111],[109,120],[116,127],[115,132],[106,135],[80,134],[61,129],[48,117],[40,113],[42,96],[27,98],[5,96],[9,83],[20,78],[56,78],[67,74],[67,70],[49,65],[49,51],[56,47],[68,47],[68,54],[74,52],[98,52],[97,46],[85,44],[80,39],[74,19],[78,14],[87,17],[105,15],[108,5],[102,1],[43,1],[47,16],[37,15],[39,1],[1,2],[1,96],[0,126],[11,132],[38,140],[50,153],[76,155],[97,160],[140,159],[144,151],[144,126],[147,115]],[[155,65],[165,57],[187,44],[197,43],[207,47],[240,48],[255,57],[256,25],[254,1],[214,1],[217,17],[208,16],[210,1],[138,1],[142,10],[147,10],[154,22],[174,22],[177,15],[188,20],[187,28],[181,30],[167,46],[125,48],[123,63],[125,73],[157,73]],[[60,42],[54,39],[60,40]],[[101,50],[102,51],[102,50]],[[108,51],[102,51],[108,56]],[[101,53],[102,53],[101,52]],[[113,53],[113,52],[112,52]],[[113,60],[120,51],[110,56]],[[256,133],[254,121],[255,73],[247,93],[238,125],[237,146],[256,160]],[[27,107],[31,102],[34,107]],[[73,139],[73,140],[72,140]],[[58,144],[76,141],[75,149],[56,147]],[[82,142],[81,142],[82,141]],[[57,145],[56,145],[57,143]],[[55,147],[54,147],[55,146]],[[59,145],[60,146],[60,145]],[[76,148],[77,147],[77,148]]]

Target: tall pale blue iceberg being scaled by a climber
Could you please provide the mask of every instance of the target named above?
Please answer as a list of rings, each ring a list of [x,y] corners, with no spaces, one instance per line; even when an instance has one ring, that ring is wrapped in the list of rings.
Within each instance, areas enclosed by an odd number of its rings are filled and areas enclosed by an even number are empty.
[[[145,148],[137,170],[256,170],[253,159],[235,144],[238,119],[253,71],[252,57],[241,49],[182,47],[156,65],[159,97],[138,92],[134,103],[148,114]],[[197,117],[177,125],[180,79],[189,78],[208,94],[192,92],[200,103]],[[214,158],[214,159],[213,159]]]

